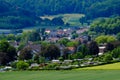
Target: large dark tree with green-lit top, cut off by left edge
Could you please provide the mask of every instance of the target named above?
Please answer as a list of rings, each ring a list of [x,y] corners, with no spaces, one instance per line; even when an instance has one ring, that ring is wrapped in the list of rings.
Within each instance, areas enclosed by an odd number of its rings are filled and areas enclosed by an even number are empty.
[[[2,40],[0,41],[0,56],[0,64],[5,65],[16,59],[16,49],[13,46],[10,46],[7,41]]]

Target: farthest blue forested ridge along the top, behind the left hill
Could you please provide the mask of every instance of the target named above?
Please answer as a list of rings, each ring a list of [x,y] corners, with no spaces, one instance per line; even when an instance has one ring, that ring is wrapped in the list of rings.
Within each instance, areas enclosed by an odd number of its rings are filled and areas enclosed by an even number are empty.
[[[89,19],[120,15],[120,0],[6,0],[37,15],[81,13]]]

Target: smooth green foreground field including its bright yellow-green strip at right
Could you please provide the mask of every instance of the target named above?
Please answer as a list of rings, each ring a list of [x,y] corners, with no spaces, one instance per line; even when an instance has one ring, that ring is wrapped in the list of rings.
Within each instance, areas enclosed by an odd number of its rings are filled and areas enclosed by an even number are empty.
[[[120,80],[120,63],[66,71],[0,72],[0,80]]]

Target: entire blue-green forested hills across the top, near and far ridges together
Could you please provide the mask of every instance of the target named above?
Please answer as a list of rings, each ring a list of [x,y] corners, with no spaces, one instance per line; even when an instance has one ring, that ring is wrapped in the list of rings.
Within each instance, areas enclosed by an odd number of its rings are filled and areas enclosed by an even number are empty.
[[[0,0],[0,29],[21,29],[39,16],[85,14],[85,19],[120,15],[120,0]],[[47,22],[47,21],[46,21]]]

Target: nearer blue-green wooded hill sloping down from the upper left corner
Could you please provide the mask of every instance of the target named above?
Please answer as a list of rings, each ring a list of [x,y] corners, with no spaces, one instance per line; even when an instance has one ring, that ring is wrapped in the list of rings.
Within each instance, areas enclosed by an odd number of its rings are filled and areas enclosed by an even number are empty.
[[[0,29],[21,29],[35,25],[34,13],[15,7],[4,0],[0,1]]]

